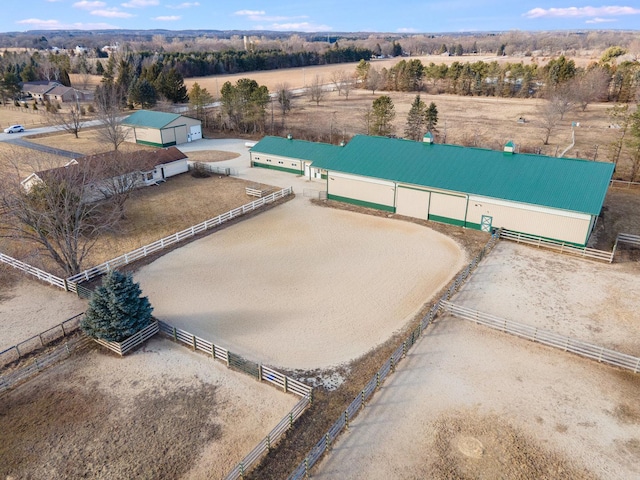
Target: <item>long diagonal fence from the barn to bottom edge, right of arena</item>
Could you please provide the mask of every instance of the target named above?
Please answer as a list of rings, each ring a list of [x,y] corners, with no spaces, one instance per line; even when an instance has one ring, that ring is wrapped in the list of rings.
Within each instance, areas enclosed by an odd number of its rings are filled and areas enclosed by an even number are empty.
[[[436,318],[440,311],[440,304],[445,302],[451,296],[457,292],[464,282],[469,278],[471,273],[476,269],[480,261],[491,252],[495,244],[498,242],[498,233],[491,236],[484,248],[478,253],[476,258],[465,268],[453,282],[451,282],[447,291],[442,297],[431,307],[429,313],[427,313],[418,326],[411,332],[407,339],[402,342],[393,354],[387,359],[386,362],[380,367],[376,374],[367,382],[362,391],[353,399],[347,409],[342,412],[336,422],[327,430],[327,432],[318,440],[318,442],[311,448],[309,453],[305,456],[304,460],[296,467],[296,469],[289,475],[289,480],[298,480],[307,478],[310,475],[311,468],[318,462],[318,460],[325,453],[329,452],[332,445],[338,435],[345,429],[349,428],[349,422],[360,412],[360,410],[366,405],[367,401],[372,395],[380,388],[385,379],[396,369],[396,366],[407,355],[407,352],[422,336],[423,332],[429,326],[429,324]]]

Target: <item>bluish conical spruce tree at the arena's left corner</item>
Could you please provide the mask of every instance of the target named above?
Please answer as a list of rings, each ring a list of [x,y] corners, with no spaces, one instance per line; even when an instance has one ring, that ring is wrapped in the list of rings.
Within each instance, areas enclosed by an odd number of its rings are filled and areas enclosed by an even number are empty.
[[[109,272],[91,295],[80,322],[82,331],[110,342],[121,342],[139,332],[151,323],[153,311],[149,299],[141,294],[130,274]]]

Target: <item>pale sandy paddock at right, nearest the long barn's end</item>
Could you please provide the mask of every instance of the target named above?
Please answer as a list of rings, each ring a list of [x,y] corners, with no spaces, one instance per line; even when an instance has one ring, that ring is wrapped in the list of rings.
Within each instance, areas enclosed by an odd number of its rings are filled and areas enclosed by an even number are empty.
[[[640,357],[637,261],[601,263],[500,242],[454,303]]]

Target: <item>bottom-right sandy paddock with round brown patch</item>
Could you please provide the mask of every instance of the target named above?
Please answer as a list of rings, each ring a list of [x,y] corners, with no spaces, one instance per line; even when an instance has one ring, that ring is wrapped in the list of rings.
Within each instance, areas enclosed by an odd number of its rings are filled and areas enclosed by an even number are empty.
[[[639,388],[632,373],[441,317],[312,475],[637,478]]]

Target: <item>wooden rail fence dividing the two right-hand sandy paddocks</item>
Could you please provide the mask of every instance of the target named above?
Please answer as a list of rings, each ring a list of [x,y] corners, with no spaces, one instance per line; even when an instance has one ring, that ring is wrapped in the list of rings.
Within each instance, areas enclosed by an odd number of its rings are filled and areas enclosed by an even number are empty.
[[[442,302],[444,311],[452,315],[469,320],[478,324],[500,330],[501,332],[510,333],[518,337],[526,338],[532,342],[541,343],[550,347],[559,348],[565,352],[575,353],[577,355],[597,360],[600,363],[606,363],[616,367],[631,370],[634,373],[640,372],[640,358],[626,353],[616,352],[608,348],[582,342],[573,338],[558,335],[548,330],[543,330],[531,325],[514,322],[504,318],[499,318],[488,313],[478,312],[470,308],[456,305],[451,302]]]

